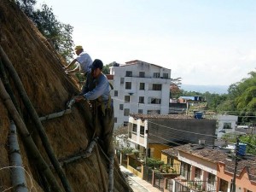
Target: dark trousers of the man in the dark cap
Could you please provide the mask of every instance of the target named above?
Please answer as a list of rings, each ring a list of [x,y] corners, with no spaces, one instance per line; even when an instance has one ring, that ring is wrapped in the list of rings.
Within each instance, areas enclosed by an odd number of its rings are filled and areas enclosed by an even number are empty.
[[[101,127],[99,137],[102,140],[102,148],[108,157],[113,157],[113,106],[102,113],[102,108],[98,107],[95,119],[96,127]]]

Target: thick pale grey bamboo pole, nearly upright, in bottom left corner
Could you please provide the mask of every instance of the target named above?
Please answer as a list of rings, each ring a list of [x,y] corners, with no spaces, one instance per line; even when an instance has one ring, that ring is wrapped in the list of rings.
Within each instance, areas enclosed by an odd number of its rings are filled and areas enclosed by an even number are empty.
[[[20,147],[17,139],[16,126],[13,121],[9,128],[9,160],[11,168],[12,186],[16,192],[27,192],[26,176],[23,169],[22,159],[20,155]]]

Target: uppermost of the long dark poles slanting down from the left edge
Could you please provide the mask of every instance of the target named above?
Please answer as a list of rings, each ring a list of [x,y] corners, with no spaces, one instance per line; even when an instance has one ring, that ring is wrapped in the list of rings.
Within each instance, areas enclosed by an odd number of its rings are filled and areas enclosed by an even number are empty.
[[[36,128],[38,130],[39,136],[41,137],[41,141],[44,145],[44,149],[46,153],[49,156],[49,160],[51,161],[52,165],[55,167],[55,171],[57,172],[58,176],[61,179],[61,183],[66,190],[66,192],[72,192],[72,189],[70,187],[70,184],[68,183],[67,177],[65,173],[61,169],[61,165],[58,162],[57,158],[55,157],[55,153],[49,143],[49,139],[44,131],[44,127],[41,123],[41,121],[38,118],[38,113],[32,106],[32,102],[29,100],[29,97],[26,95],[26,90],[23,87],[23,84],[20,81],[18,73],[15,71],[15,67],[13,67],[11,61],[9,61],[8,56],[5,54],[2,46],[0,45],[0,56],[3,59],[3,64],[5,67],[8,68],[10,75],[12,76],[12,79],[15,82],[17,90],[19,90],[20,97],[22,101],[24,102],[24,105],[26,106],[26,109],[30,113],[32,120],[34,121]]]

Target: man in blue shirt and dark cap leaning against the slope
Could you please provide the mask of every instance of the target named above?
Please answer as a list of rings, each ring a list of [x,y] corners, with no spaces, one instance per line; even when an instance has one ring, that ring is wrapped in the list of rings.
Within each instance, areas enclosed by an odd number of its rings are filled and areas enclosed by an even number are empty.
[[[79,96],[74,96],[75,102],[87,100],[91,104],[95,127],[101,127],[96,132],[103,142],[102,148],[108,157],[113,158],[113,100],[110,96],[110,84],[102,73],[103,63],[96,59],[91,65],[91,78],[86,80],[84,89]]]

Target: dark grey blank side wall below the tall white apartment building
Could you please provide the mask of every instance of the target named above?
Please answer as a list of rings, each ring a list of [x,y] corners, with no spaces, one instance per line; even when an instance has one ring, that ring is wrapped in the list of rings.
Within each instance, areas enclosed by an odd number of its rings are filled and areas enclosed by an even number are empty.
[[[213,119],[148,119],[148,143],[213,144],[216,120]]]

